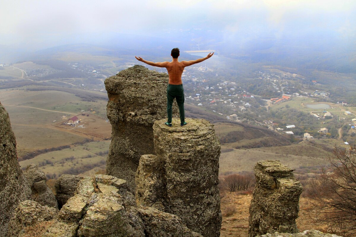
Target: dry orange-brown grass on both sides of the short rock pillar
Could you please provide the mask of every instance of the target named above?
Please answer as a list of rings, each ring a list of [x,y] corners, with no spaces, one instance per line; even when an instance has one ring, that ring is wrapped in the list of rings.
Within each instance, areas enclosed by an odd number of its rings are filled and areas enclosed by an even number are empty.
[[[220,237],[246,237],[248,233],[248,208],[250,207],[252,194],[238,192],[227,192],[222,194],[221,214],[223,223],[221,225]],[[316,229],[328,233],[328,226],[319,222],[317,210],[312,205],[310,198],[299,199],[299,217],[297,226],[299,231]]]

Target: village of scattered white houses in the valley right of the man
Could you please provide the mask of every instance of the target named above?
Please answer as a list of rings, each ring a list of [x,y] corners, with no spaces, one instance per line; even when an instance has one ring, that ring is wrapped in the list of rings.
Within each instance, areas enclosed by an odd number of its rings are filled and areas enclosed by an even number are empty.
[[[193,72],[192,72],[193,71]],[[251,123],[259,126],[265,126],[271,130],[279,131],[285,134],[297,135],[303,139],[313,139],[314,137],[309,133],[303,133],[299,131],[297,134],[293,132],[296,126],[300,127],[300,124],[279,124],[274,122],[273,116],[268,115],[268,110],[272,106],[293,100],[295,98],[312,98],[323,101],[328,98],[329,93],[320,90],[309,90],[308,92],[297,88],[297,80],[295,78],[297,74],[276,75],[268,72],[259,72],[259,76],[252,79],[246,79],[247,81],[258,81],[263,84],[265,91],[273,91],[278,97],[268,98],[263,93],[253,93],[255,91],[249,91],[244,88],[243,83],[233,82],[229,80],[221,80],[216,84],[211,85],[211,80],[206,79],[204,76],[204,67],[193,68],[183,72],[182,79],[184,81],[185,90],[185,102],[194,104],[217,113],[226,119]],[[218,75],[216,75],[218,76]],[[303,78],[304,79],[304,78]],[[303,80],[302,79],[302,80]],[[305,79],[304,79],[305,80]],[[311,84],[316,85],[317,81],[311,81]],[[347,106],[346,102],[337,102],[337,105],[342,107]],[[289,107],[289,104],[286,106]],[[331,134],[329,129],[323,127],[324,121],[331,121],[334,115],[337,117],[337,121],[345,120],[347,122],[347,129],[351,129],[352,133],[355,133],[356,118],[355,114],[350,111],[342,112],[344,116],[333,114],[333,112],[321,109],[320,112],[310,112],[309,116],[315,118],[319,122],[320,128],[317,130],[319,133],[317,138],[330,138]],[[252,116],[251,116],[252,115]],[[321,121],[321,122],[320,122]],[[286,121],[288,123],[288,121]],[[336,132],[334,132],[336,134]],[[351,133],[351,135],[353,135]],[[337,138],[334,135],[334,138]],[[348,144],[347,142],[345,144]]]

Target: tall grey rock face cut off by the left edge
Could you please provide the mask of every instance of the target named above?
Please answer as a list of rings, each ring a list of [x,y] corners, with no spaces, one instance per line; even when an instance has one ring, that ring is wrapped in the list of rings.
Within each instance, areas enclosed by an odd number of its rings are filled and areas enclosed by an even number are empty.
[[[0,103],[0,237],[7,236],[10,217],[21,201],[31,199],[19,162],[9,114]]]

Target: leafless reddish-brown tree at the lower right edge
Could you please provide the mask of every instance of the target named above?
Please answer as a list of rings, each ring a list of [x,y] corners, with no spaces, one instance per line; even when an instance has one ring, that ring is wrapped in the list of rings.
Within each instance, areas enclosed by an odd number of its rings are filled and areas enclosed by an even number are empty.
[[[318,175],[319,194],[313,197],[322,221],[335,233],[356,234],[356,147],[334,149],[330,165]]]

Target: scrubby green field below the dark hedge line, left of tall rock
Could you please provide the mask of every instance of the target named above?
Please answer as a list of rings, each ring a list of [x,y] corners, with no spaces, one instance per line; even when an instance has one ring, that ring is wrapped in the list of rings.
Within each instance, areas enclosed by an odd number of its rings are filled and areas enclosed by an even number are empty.
[[[63,173],[80,174],[105,165],[109,145],[110,141],[88,142],[44,153],[19,163],[21,169],[26,169],[31,163],[38,165],[48,178],[58,178]]]

